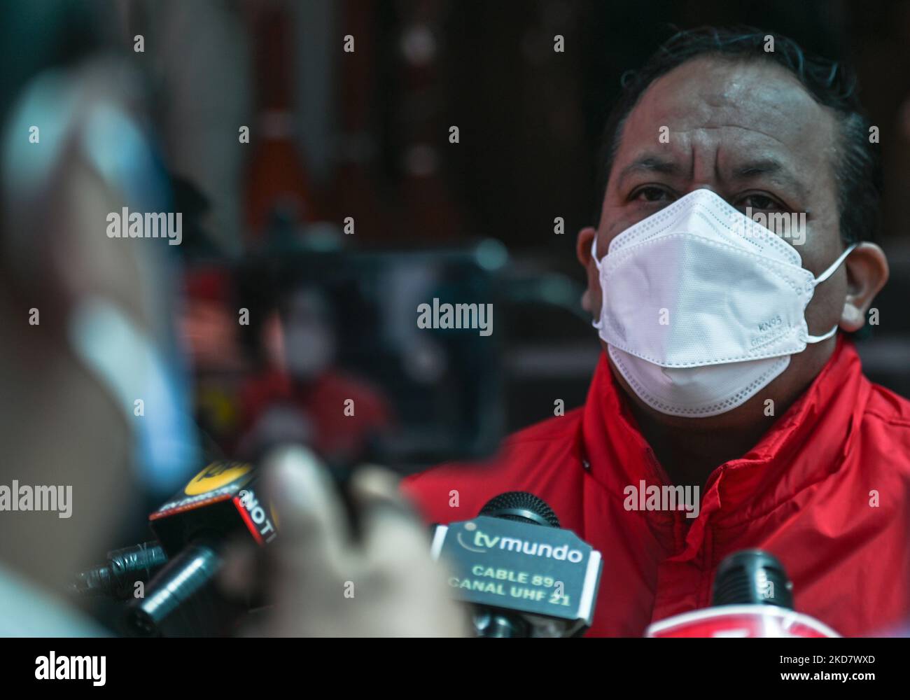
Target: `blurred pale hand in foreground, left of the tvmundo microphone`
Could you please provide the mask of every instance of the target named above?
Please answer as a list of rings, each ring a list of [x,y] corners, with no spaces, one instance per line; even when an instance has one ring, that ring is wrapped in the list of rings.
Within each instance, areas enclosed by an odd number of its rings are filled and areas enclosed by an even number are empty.
[[[249,636],[466,636],[468,615],[450,597],[445,574],[430,558],[427,529],[399,494],[398,479],[361,468],[350,494],[362,533],[327,472],[298,447],[274,451],[264,464],[278,538],[265,558],[264,593],[271,607],[244,630]],[[222,583],[233,593],[254,585],[253,554],[229,553]]]

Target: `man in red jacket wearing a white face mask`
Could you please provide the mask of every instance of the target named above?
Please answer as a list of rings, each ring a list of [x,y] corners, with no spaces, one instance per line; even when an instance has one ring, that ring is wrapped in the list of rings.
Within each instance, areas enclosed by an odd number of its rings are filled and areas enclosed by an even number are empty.
[[[587,401],[490,464],[410,477],[427,520],[549,502],[603,554],[589,634],[710,604],[718,563],[752,547],[840,634],[910,614],[910,402],[837,333],[888,275],[869,134],[842,66],[784,37],[662,46],[612,112],[600,223],[578,237],[604,350]],[[776,217],[794,227],[752,226]]]

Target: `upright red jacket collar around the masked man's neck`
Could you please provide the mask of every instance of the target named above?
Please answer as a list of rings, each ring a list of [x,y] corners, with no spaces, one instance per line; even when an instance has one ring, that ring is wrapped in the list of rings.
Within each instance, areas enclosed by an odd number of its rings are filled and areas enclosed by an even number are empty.
[[[854,438],[869,390],[856,350],[839,337],[831,358],[803,396],[752,450],[712,472],[699,517],[688,522],[703,526],[711,519],[731,526],[754,520],[835,472]],[[667,483],[604,353],[591,381],[581,431],[591,474],[608,490],[622,495],[626,486],[642,479],[648,485]],[[676,513],[652,515],[659,522],[676,520]]]

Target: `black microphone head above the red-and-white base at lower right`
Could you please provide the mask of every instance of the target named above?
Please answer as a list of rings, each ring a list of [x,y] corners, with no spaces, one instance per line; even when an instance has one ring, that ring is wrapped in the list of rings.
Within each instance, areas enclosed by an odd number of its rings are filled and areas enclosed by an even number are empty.
[[[784,564],[760,549],[734,552],[717,567],[712,605],[777,605],[793,610],[793,583]]]

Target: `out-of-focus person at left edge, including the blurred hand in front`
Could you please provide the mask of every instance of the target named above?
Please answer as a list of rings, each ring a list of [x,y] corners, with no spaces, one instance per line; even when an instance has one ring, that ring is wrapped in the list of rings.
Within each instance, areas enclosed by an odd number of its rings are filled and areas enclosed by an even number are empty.
[[[172,203],[142,80],[92,31],[103,17],[76,2],[4,11],[0,484],[69,486],[72,498],[66,513],[0,511],[0,634],[108,634],[53,592],[122,543],[123,522],[147,512],[144,495],[170,492],[199,466],[170,340],[168,241],[107,235],[111,213]],[[248,634],[463,633],[388,474],[365,469],[351,482],[367,526],[355,542],[305,451],[270,462],[281,512],[266,561],[273,607]],[[251,561],[228,558],[227,591],[252,585]],[[344,597],[347,581],[359,582],[356,600]]]

